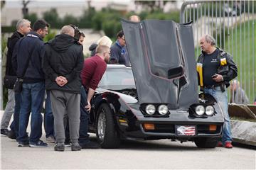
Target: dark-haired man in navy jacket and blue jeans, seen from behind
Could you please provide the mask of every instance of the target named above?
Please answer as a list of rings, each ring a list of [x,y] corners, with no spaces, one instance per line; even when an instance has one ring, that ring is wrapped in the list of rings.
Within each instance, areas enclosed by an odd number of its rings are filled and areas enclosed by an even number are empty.
[[[43,38],[48,34],[48,23],[38,20],[33,25],[33,32],[21,38],[16,44],[13,65],[17,77],[23,79],[21,91],[21,113],[18,130],[18,147],[47,147],[41,141],[41,115],[45,92],[42,57],[45,51]],[[28,138],[26,128],[31,113],[31,134]]]

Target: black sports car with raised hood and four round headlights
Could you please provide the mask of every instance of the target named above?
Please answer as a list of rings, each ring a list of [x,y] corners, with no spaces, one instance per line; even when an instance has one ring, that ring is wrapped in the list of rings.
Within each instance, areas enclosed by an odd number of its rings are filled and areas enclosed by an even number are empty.
[[[223,113],[212,96],[198,97],[191,24],[123,20],[122,28],[132,68],[108,65],[91,101],[90,132],[101,146],[133,138],[216,147]]]

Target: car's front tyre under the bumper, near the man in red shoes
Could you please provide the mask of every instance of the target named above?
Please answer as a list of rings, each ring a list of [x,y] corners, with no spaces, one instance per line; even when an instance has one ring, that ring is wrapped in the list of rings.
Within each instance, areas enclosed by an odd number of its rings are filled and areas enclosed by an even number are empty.
[[[218,139],[211,137],[199,137],[195,139],[195,144],[200,148],[215,148],[218,144]]]

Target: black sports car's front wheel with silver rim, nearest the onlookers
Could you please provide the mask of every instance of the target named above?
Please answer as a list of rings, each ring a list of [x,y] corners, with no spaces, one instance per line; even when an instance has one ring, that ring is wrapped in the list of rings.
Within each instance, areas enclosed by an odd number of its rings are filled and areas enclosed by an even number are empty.
[[[102,148],[117,148],[120,145],[120,137],[114,128],[114,118],[110,107],[103,103],[97,113],[96,124],[97,140]]]

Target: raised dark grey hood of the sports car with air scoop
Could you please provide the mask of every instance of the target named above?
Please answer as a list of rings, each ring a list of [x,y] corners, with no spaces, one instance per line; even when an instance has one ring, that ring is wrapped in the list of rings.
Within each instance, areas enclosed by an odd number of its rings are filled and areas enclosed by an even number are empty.
[[[122,20],[139,103],[187,109],[198,103],[191,23]]]

